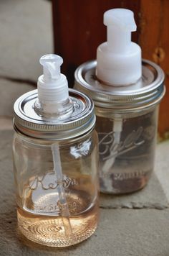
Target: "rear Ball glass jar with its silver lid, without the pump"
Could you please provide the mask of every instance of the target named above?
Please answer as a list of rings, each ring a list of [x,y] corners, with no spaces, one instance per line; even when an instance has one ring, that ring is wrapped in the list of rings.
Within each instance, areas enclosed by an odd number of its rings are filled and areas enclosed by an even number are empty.
[[[148,183],[153,172],[164,73],[155,63],[143,60],[143,76],[137,83],[108,86],[95,76],[96,65],[89,61],[77,68],[74,88],[95,102],[100,190],[134,192]]]

